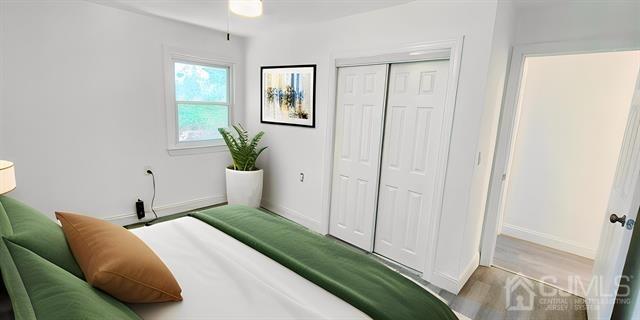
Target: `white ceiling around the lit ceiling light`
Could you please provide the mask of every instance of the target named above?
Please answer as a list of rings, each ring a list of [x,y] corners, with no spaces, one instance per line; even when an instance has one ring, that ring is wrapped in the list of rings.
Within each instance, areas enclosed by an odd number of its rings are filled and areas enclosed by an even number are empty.
[[[227,30],[226,0],[89,0],[102,5]],[[258,18],[230,15],[231,33],[252,36],[274,28],[332,20],[391,7],[411,0],[263,0]]]

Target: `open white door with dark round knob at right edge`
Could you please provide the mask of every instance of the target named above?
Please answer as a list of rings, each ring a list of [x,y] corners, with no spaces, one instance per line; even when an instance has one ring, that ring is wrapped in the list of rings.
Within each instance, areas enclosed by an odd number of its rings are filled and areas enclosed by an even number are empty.
[[[608,211],[593,266],[593,279],[587,291],[589,319],[609,319],[626,260],[631,228],[640,207],[640,76],[631,101],[631,111],[620,150]],[[612,222],[611,215],[626,216],[626,223]],[[628,228],[627,228],[628,227]],[[623,284],[625,280],[623,280]]]

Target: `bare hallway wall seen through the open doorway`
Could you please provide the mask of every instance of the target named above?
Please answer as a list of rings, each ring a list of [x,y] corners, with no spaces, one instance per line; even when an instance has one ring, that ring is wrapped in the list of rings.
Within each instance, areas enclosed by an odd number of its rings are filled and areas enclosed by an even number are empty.
[[[504,234],[595,256],[639,67],[638,51],[525,60]]]

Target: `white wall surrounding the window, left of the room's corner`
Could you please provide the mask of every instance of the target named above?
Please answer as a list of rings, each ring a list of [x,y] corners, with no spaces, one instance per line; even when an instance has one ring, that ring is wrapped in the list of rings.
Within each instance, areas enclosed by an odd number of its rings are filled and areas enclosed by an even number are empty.
[[[150,205],[151,165],[163,213],[224,201],[225,152],[167,153],[162,46],[243,62],[242,38],[85,1],[0,9],[0,158],[16,163],[11,196],[51,217],[131,214],[138,197]],[[244,74],[241,63],[239,119]]]

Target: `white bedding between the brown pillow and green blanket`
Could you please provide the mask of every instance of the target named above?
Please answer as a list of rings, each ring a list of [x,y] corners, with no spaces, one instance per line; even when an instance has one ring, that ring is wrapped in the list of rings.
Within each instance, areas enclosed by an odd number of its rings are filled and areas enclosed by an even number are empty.
[[[182,302],[134,304],[144,319],[370,319],[279,263],[185,217],[131,230],[182,287]]]

